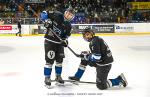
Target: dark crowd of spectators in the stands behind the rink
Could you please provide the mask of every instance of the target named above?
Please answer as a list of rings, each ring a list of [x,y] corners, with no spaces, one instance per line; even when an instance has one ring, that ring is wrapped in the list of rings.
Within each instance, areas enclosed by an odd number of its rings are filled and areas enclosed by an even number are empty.
[[[3,1],[3,2],[2,2]],[[0,17],[38,18],[43,10],[60,10],[69,6],[76,16],[72,23],[149,22],[149,10],[131,10],[128,2],[150,0],[45,0],[45,3],[25,3],[25,0],[0,1]]]

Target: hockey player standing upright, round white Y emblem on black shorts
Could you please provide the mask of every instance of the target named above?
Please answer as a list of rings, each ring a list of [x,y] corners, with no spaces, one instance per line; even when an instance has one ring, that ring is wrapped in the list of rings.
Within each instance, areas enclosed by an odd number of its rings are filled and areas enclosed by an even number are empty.
[[[59,11],[43,11],[41,13],[41,20],[44,21],[44,26],[47,28],[45,33],[45,60],[44,66],[45,84],[51,86],[51,72],[54,62],[56,82],[64,84],[61,77],[62,63],[64,55],[64,47],[67,47],[67,38],[71,35],[71,23],[74,18],[73,9],[68,8],[64,13]],[[53,33],[52,33],[53,32]],[[54,34],[61,38],[61,40]]]

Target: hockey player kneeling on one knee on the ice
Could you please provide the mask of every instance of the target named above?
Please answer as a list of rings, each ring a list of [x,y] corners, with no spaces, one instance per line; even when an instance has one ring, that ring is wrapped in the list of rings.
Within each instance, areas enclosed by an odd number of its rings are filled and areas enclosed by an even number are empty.
[[[90,42],[90,51],[81,52],[81,63],[79,68],[75,75],[70,76],[69,79],[79,81],[85,71],[86,66],[89,65],[96,68],[97,88],[104,90],[120,85],[126,87],[127,81],[123,73],[115,79],[107,79],[108,73],[112,66],[113,57],[106,42],[102,38],[95,36],[93,30],[90,28],[86,28],[83,31],[83,38],[84,40]]]

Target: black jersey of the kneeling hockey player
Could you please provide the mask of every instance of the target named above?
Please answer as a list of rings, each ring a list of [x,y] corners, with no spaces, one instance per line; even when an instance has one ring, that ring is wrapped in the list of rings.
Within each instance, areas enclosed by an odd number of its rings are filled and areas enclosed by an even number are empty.
[[[113,62],[112,53],[108,45],[102,38],[95,36],[90,42],[89,47],[93,56],[98,55],[101,57],[99,60],[96,61],[96,63],[109,64]]]

